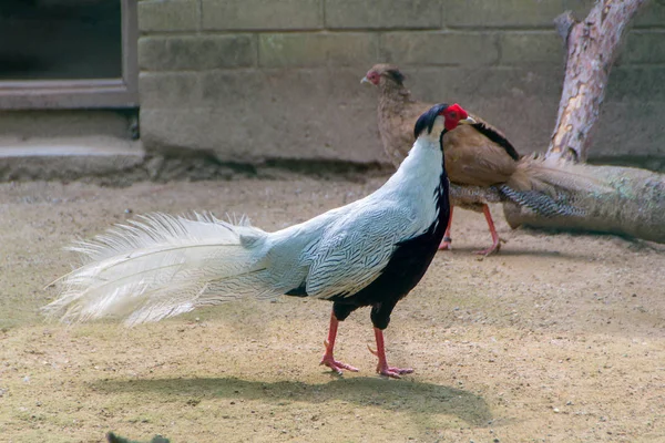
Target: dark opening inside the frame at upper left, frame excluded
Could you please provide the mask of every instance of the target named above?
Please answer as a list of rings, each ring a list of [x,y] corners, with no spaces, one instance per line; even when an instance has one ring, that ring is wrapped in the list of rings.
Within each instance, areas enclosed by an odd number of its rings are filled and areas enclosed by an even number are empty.
[[[0,2],[0,80],[121,76],[120,1]]]

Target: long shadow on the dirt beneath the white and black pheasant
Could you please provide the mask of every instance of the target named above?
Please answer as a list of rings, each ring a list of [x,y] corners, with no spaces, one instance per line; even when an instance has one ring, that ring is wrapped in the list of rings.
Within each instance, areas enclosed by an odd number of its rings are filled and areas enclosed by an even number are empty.
[[[386,380],[374,377],[336,378],[324,383],[299,381],[250,381],[238,378],[175,378],[104,380],[93,383],[109,393],[155,393],[164,400],[177,398],[227,398],[262,400],[268,403],[346,401],[362,406],[409,412],[413,414],[454,415],[478,426],[492,420],[483,398],[471,392],[409,380]]]

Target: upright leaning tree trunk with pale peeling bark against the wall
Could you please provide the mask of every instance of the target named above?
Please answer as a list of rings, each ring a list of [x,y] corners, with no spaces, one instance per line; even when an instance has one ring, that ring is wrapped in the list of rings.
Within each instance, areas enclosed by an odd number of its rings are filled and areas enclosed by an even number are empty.
[[[566,47],[565,79],[548,157],[584,162],[607,79],[630,23],[647,0],[597,0],[586,19],[555,19]]]

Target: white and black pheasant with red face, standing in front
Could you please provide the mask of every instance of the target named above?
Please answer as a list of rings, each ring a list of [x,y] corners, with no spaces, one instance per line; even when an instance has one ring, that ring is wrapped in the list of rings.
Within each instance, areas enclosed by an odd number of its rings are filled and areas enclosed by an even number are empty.
[[[321,364],[335,360],[338,322],[371,307],[377,372],[411,369],[386,361],[382,330],[395,305],[420,281],[443,237],[449,183],[442,135],[473,123],[457,104],[438,104],[416,123],[416,143],[378,190],[276,233],[212,216],[144,216],[73,247],[83,265],[62,278],[62,293],[44,310],[63,321],[125,318],[156,321],[245,296],[282,295],[334,302]]]

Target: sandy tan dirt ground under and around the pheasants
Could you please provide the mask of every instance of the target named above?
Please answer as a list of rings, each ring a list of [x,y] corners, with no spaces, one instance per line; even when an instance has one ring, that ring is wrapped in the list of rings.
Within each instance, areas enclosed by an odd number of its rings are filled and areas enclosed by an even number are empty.
[[[62,248],[135,214],[246,213],[277,229],[374,190],[382,178],[238,179],[127,188],[0,185],[0,441],[100,442],[112,430],[172,442],[663,442],[665,249],[616,237],[511,231],[500,255],[482,215],[457,210],[400,303],[375,374],[369,311],[318,365],[330,305],[237,301],[160,323],[45,323]]]

